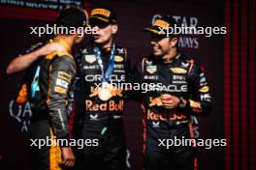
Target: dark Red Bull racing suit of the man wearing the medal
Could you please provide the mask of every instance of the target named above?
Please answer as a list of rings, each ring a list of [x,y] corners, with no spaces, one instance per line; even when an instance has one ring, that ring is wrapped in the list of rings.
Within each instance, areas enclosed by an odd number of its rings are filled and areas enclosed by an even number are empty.
[[[112,86],[127,81],[130,61],[126,49],[115,45],[112,74],[109,84],[103,90],[102,71],[94,48],[93,42],[89,42],[80,47],[76,56],[79,69],[73,134],[75,138],[91,139],[98,145],[84,146],[77,150],[77,169],[122,170],[125,168],[126,158],[122,121],[124,91]],[[106,71],[112,48],[100,50]]]

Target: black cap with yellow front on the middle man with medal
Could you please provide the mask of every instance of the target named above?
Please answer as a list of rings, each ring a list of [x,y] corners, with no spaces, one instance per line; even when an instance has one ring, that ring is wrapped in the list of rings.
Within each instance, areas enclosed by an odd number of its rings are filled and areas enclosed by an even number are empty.
[[[104,22],[115,24],[116,23],[116,15],[112,12],[110,8],[99,7],[95,8],[91,11],[89,16],[89,22]]]

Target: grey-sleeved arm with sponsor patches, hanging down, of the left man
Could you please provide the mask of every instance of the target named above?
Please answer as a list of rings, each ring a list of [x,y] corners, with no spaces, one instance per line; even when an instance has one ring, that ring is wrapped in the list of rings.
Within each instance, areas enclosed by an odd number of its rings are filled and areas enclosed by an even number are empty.
[[[70,56],[58,57],[49,69],[48,109],[57,138],[68,138],[68,93],[76,73]]]

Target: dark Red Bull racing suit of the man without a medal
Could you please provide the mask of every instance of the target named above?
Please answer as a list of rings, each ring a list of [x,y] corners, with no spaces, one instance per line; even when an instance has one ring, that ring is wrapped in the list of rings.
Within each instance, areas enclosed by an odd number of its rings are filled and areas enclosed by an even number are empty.
[[[144,163],[146,170],[192,170],[195,164],[193,146],[160,144],[163,139],[194,138],[191,116],[204,116],[210,110],[206,72],[193,60],[178,54],[170,63],[155,56],[145,57],[136,67],[136,75],[150,84],[144,93]],[[180,99],[174,109],[163,107],[161,95]]]

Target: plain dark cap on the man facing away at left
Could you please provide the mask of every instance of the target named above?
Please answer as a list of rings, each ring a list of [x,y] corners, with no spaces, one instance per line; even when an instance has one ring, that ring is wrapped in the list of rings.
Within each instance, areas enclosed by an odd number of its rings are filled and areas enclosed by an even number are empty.
[[[78,8],[71,7],[60,11],[56,24],[66,27],[84,27],[86,25],[86,16]]]

